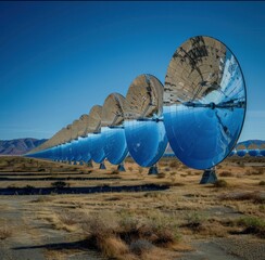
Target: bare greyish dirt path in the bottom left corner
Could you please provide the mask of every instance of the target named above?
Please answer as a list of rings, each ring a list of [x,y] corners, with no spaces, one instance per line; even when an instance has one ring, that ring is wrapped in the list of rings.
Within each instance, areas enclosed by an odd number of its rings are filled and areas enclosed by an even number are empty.
[[[33,196],[1,197],[4,207],[0,220],[12,229],[11,237],[0,240],[1,260],[102,259],[98,252],[87,250],[78,237],[36,219],[35,209],[26,205],[33,199]]]

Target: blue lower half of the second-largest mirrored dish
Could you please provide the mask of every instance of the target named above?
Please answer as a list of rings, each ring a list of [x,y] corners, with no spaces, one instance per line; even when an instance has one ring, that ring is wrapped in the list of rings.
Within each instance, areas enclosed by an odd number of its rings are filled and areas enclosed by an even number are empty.
[[[130,156],[142,167],[154,165],[164,154],[167,138],[162,121],[125,121]]]

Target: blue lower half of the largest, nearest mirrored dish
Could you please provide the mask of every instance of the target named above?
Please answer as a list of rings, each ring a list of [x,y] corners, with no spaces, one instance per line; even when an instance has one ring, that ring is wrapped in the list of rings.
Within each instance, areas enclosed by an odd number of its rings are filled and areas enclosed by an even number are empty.
[[[182,105],[164,107],[164,122],[171,146],[185,165],[207,169],[230,153],[234,140],[237,140],[241,130],[238,120],[242,120],[244,114],[240,110],[224,113],[218,108],[198,107],[194,112],[194,108]],[[224,119],[219,121],[219,118]]]

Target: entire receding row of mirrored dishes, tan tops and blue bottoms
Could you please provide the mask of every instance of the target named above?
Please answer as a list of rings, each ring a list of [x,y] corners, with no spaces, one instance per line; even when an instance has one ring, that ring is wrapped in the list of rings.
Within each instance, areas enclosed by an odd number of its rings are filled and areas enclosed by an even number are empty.
[[[209,169],[235,147],[245,101],[232,52],[214,38],[193,37],[174,53],[164,87],[152,75],[138,76],[126,98],[110,94],[103,106],[94,105],[27,156],[121,165],[129,153],[138,165],[152,167],[169,142],[185,165]]]

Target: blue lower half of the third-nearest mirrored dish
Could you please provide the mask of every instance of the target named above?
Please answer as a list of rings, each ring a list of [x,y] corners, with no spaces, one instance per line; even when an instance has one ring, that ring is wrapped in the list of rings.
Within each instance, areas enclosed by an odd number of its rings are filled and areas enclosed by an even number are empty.
[[[101,134],[106,159],[113,165],[123,162],[128,154],[124,128],[102,127]]]

